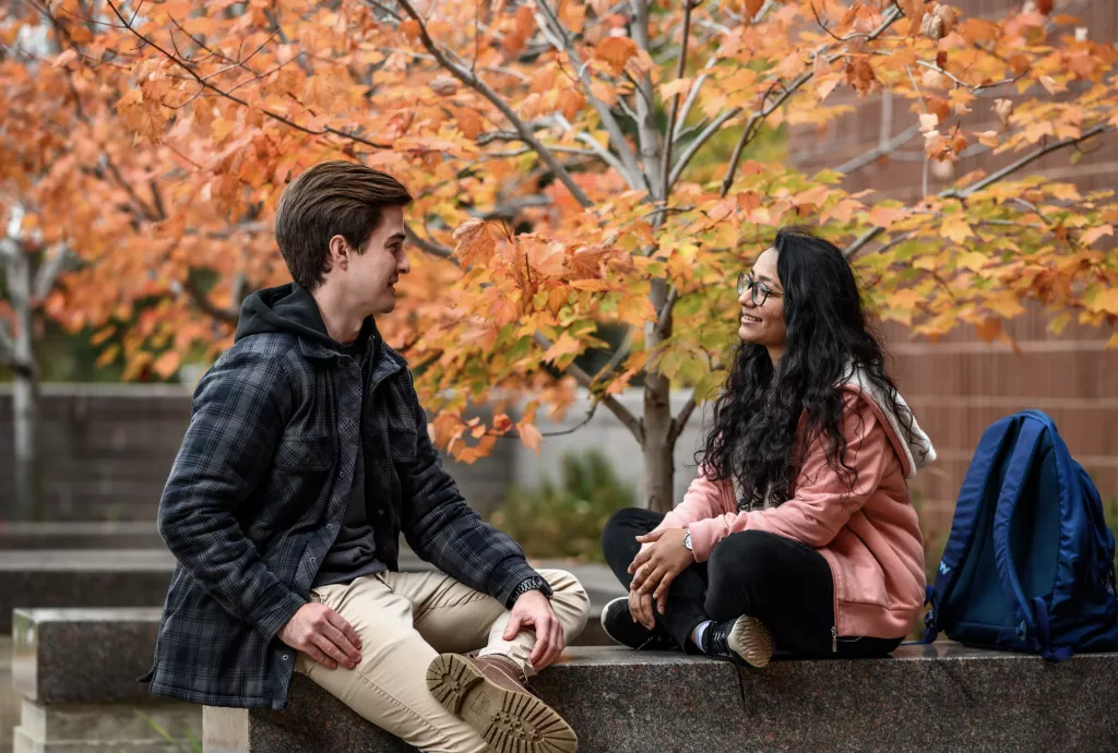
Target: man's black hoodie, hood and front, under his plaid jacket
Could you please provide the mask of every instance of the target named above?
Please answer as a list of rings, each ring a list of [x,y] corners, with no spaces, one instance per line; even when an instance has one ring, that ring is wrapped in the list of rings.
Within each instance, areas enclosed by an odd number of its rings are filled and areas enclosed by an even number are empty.
[[[235,340],[265,332],[290,332],[325,347],[349,355],[361,364],[361,378],[364,383],[362,410],[369,402],[369,374],[380,353],[377,336],[377,323],[369,316],[361,324],[361,333],[352,343],[342,344],[326,334],[326,325],[319,312],[314,296],[299,283],[288,283],[280,287],[257,290],[245,299],[240,307],[240,322],[237,324]],[[368,355],[368,358],[367,358]],[[362,426],[367,426],[362,421]],[[331,583],[349,583],[363,575],[372,575],[386,569],[377,559],[377,544],[373,541],[372,525],[366,506],[366,495],[369,492],[366,484],[364,468],[367,465],[364,451],[370,446],[369,438],[361,432],[362,451],[357,454],[353,468],[353,488],[349,495],[349,505],[342,518],[338,537],[331,545],[322,564],[314,576],[312,588]]]

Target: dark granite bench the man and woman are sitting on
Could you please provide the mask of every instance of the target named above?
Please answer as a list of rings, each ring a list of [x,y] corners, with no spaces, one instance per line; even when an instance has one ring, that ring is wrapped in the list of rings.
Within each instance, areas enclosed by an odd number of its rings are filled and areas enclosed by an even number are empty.
[[[1118,750],[1118,654],[1060,665],[951,642],[890,658],[774,661],[572,648],[532,684],[581,753]],[[302,675],[286,711],[207,707],[206,753],[402,752]]]

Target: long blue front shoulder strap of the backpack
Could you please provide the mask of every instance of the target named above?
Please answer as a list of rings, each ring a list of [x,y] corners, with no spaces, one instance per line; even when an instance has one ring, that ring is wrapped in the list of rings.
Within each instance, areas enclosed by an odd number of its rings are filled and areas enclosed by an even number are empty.
[[[997,507],[994,512],[994,559],[997,563],[997,576],[1002,582],[1002,591],[1010,602],[1013,616],[1021,620],[1018,632],[1022,638],[1031,638],[1034,648],[1045,659],[1060,661],[1071,656],[1071,649],[1052,646],[1048,607],[1044,604],[1044,599],[1036,597],[1030,600],[1025,594],[1017,578],[1017,568],[1013,562],[1013,551],[1010,547],[1010,524],[1016,512],[1017,503],[1021,501],[1024,482],[1029,478],[1029,471],[1039,455],[1038,450],[1044,441],[1044,433],[1051,428],[1051,419],[1043,413],[1036,414],[1034,411],[1027,411],[1027,414],[1021,416],[1021,430],[1005,469],[1002,489],[997,497]],[[1067,478],[1065,475],[1062,477]]]

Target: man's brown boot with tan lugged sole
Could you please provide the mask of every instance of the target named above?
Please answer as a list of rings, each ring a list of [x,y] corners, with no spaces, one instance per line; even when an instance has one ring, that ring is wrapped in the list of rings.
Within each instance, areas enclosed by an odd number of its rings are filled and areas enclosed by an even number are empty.
[[[427,687],[498,753],[578,750],[575,731],[524,687],[512,659],[440,654],[427,667]]]

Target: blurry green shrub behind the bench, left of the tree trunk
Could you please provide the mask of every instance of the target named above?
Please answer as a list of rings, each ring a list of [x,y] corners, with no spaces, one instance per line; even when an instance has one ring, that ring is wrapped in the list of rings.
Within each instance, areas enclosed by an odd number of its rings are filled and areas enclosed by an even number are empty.
[[[601,562],[601,530],[616,511],[633,505],[634,489],[620,482],[597,450],[562,457],[559,485],[513,487],[490,522],[512,536],[528,556]]]

